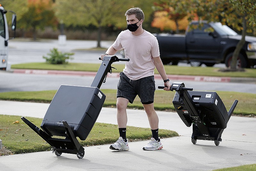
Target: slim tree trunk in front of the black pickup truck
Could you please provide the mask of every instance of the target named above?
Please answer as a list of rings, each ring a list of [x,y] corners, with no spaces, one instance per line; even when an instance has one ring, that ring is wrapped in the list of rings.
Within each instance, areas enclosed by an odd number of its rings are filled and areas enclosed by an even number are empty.
[[[242,39],[237,43],[236,49],[235,49],[235,51],[233,53],[232,60],[230,62],[230,70],[232,70],[232,71],[236,71],[237,70],[237,68],[236,68],[236,61],[237,61],[237,58],[239,56],[239,53],[240,53],[241,49],[244,46],[244,43],[245,43],[245,34],[246,34],[246,29],[247,29],[245,16],[243,17],[242,25],[243,25]]]

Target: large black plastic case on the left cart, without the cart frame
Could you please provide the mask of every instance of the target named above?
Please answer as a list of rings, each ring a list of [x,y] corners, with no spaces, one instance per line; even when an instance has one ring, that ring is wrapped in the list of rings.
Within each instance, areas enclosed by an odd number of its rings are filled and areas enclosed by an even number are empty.
[[[61,85],[44,116],[41,128],[50,136],[66,136],[68,122],[76,137],[85,140],[95,124],[106,96],[97,87]]]

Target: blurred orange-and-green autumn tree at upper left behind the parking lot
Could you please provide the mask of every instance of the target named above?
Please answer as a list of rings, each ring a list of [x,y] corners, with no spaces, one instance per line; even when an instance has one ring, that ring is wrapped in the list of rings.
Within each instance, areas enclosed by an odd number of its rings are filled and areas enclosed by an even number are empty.
[[[52,0],[28,0],[28,10],[20,16],[19,25],[24,30],[33,30],[33,37],[36,40],[38,29],[44,30],[46,26],[57,26],[57,18],[52,10]]]

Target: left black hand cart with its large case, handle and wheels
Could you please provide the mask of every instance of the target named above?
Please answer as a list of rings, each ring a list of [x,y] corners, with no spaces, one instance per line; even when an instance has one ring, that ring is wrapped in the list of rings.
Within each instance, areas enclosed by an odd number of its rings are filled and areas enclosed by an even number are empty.
[[[106,99],[104,93],[100,91],[100,86],[106,81],[108,72],[112,73],[111,64],[117,61],[130,61],[130,59],[104,56],[90,87],[60,85],[46,111],[41,129],[25,117],[21,118],[52,146],[57,156],[71,153],[76,154],[79,159],[84,157],[84,148],[76,137],[85,140],[92,130]],[[52,136],[60,136],[60,138]]]

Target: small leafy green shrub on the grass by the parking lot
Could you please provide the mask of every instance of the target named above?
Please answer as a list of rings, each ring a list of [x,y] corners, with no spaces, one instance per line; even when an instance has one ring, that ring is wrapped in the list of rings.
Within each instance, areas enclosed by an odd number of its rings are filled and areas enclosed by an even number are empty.
[[[57,48],[53,48],[50,53],[47,53],[48,57],[43,56],[47,63],[50,64],[67,64],[67,59],[73,59],[70,56],[75,53],[61,53]]]

